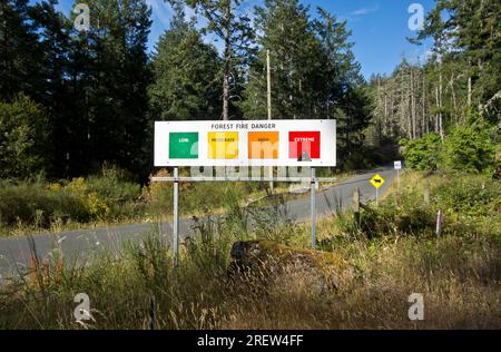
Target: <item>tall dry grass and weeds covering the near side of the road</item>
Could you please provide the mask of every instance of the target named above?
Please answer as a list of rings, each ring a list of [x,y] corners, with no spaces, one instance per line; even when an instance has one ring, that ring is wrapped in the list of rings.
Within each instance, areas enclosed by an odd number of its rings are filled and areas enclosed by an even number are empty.
[[[501,243],[495,234],[501,221],[491,208],[497,199],[481,202],[489,211],[477,215],[473,225],[463,213],[450,211],[436,241],[431,223],[435,207],[443,206],[443,189],[453,187],[455,177],[469,176],[403,177],[412,186],[402,187],[399,197],[392,189],[379,208],[362,214],[362,223],[371,226],[354,225],[350,212],[334,211],[320,221],[318,245],[344,258],[353,272],[337,290],[311,290],[301,272],[286,276],[282,286],[230,280],[227,268],[235,241],[259,237],[307,248],[310,226],[278,221],[284,216],[279,207],[253,215],[246,214],[253,209],[228,201],[230,215],[198,218],[189,239],[181,243],[177,268],[168,236],[159,232],[124,244],[118,256],[102,251],[86,266],[67,263],[62,255],[48,264],[38,260],[24,281],[0,287],[0,327],[501,327]],[[422,201],[425,182],[432,185],[430,205]],[[416,208],[425,216],[415,219]],[[261,221],[249,221],[255,216]],[[409,217],[413,222],[403,221]],[[72,316],[73,297],[80,292],[90,296],[94,317],[84,323]],[[407,297],[414,292],[424,296],[424,321],[407,317]]]

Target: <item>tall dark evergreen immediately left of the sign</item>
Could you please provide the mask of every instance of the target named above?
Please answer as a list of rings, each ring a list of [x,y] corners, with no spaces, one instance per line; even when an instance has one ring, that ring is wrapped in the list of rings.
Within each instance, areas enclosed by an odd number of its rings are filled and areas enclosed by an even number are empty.
[[[78,0],[89,6],[90,31],[79,35],[77,51],[84,71],[80,88],[81,133],[87,135],[91,168],[102,162],[144,170],[149,151],[146,45],[151,25],[144,0]],[[146,159],[145,159],[146,158]]]

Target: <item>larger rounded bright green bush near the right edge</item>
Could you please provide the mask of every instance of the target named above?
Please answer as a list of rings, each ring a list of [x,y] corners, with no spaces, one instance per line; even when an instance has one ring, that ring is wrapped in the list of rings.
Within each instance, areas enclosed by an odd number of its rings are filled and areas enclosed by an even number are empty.
[[[444,166],[482,172],[494,162],[494,146],[481,126],[456,126],[445,138]]]

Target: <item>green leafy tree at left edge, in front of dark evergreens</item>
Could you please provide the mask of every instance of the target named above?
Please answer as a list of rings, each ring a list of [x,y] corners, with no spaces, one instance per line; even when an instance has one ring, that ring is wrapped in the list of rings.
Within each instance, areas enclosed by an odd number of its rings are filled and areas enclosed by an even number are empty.
[[[0,177],[31,177],[48,166],[48,120],[24,95],[0,102]]]

